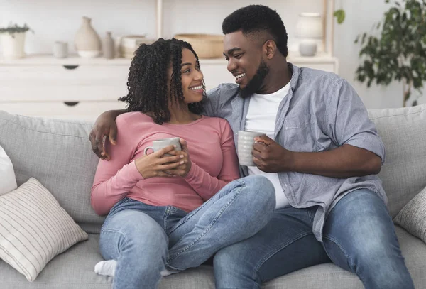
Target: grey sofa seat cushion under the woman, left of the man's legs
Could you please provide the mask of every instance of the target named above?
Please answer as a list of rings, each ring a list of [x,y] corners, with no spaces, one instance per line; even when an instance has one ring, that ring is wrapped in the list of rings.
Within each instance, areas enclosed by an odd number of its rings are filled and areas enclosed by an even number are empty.
[[[0,288],[7,289],[111,289],[112,278],[94,273],[94,265],[102,261],[98,251],[99,234],[89,234],[89,240],[72,246],[56,256],[34,282],[0,260]],[[201,266],[163,278],[160,289],[214,289],[210,266]]]

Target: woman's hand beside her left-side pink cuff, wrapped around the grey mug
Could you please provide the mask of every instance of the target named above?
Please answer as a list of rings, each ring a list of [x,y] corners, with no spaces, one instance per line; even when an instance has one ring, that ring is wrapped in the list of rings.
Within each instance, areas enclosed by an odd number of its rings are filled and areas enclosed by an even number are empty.
[[[173,177],[172,173],[166,173],[166,171],[174,170],[185,164],[182,155],[164,156],[165,153],[172,154],[174,151],[175,147],[170,145],[155,153],[137,158],[135,164],[142,178]]]

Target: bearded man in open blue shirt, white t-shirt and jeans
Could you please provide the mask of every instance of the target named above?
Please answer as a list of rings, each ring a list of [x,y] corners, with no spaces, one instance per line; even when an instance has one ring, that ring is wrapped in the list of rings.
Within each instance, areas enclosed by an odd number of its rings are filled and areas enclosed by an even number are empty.
[[[376,175],[385,148],[354,89],[332,73],[288,63],[285,26],[266,6],[234,11],[222,31],[238,85],[212,89],[204,108],[227,119],[234,136],[266,133],[253,146],[256,167],[241,167],[241,176],[266,175],[277,207],[258,234],[214,256],[217,288],[261,288],[330,261],[365,288],[414,288]],[[94,151],[103,150],[104,135],[114,140],[119,112],[99,116]]]

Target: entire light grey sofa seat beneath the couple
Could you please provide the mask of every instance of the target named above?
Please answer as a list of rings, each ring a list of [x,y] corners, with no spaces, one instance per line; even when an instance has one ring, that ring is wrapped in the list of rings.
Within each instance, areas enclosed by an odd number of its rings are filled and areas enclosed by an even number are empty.
[[[426,245],[404,229],[395,229],[415,288],[426,288]],[[21,274],[0,261],[1,285],[8,289],[110,289],[111,278],[93,272],[94,265],[102,261],[102,256],[97,251],[98,245],[99,235],[89,234],[89,241],[73,246],[50,261],[33,283],[29,283]],[[200,266],[170,275],[161,280],[159,288],[214,289],[212,267]],[[364,286],[355,274],[328,263],[275,278],[262,288],[363,289]]]

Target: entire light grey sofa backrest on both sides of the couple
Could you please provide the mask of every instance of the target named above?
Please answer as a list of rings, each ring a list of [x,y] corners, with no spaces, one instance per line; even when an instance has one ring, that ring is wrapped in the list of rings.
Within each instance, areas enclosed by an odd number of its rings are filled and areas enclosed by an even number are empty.
[[[379,174],[394,217],[426,187],[426,105],[368,111],[386,146]],[[99,159],[92,153],[92,124],[37,119],[0,111],[0,146],[13,163],[18,185],[36,178],[89,233],[104,217],[90,206],[90,189]]]

